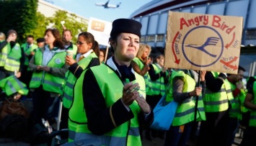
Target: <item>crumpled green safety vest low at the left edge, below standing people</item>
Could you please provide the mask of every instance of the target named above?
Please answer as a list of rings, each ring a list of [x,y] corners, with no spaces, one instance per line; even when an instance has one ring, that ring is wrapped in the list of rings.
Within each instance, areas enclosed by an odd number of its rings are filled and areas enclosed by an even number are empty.
[[[0,88],[6,93],[7,96],[11,96],[14,93],[20,93],[21,95],[27,95],[28,89],[25,83],[19,81],[16,76],[9,76],[0,81]]]

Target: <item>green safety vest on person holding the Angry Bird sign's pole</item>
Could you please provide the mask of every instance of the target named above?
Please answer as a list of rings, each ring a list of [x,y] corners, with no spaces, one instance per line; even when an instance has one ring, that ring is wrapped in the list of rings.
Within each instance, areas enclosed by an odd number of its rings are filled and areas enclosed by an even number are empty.
[[[184,78],[184,84],[182,88],[182,93],[190,92],[195,89],[195,80],[185,74],[182,70],[175,71],[172,73],[171,80],[177,76]],[[172,83],[171,81],[171,83]],[[172,92],[172,84],[169,89],[169,92]],[[167,94],[167,101],[173,101],[172,93]],[[175,113],[175,118],[173,119],[172,126],[180,126],[187,124],[188,122],[193,122],[195,118],[195,97],[190,99],[185,99],[182,103],[179,103],[177,106],[177,111]],[[198,96],[198,110],[196,114],[196,120],[202,121],[206,120],[206,114],[203,106],[202,93]]]

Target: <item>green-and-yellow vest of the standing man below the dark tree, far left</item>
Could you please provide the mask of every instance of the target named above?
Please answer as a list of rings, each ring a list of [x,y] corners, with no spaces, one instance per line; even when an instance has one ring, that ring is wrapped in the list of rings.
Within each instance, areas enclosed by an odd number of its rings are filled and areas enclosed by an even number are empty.
[[[20,58],[22,58],[22,50],[20,48],[20,45],[16,43],[6,58],[4,69],[8,71],[18,71],[20,65]]]

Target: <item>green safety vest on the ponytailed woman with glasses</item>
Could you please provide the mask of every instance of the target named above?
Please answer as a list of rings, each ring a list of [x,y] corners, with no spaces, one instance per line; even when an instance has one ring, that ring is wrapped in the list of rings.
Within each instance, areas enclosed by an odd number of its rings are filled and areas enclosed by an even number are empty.
[[[83,68],[87,68],[89,63],[91,62],[92,58],[97,58],[97,55],[95,53],[91,53],[87,58],[83,58],[78,62],[79,66]],[[64,89],[63,89],[63,106],[67,109],[70,108],[72,101],[73,101],[73,88],[74,84],[76,82],[76,76],[74,76],[73,73],[71,73],[69,70],[65,74],[65,81]]]

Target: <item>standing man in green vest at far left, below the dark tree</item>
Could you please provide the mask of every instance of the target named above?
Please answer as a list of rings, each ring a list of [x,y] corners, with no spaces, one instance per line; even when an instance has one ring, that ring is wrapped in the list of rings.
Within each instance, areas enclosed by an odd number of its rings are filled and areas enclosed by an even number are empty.
[[[22,69],[25,63],[25,53],[21,49],[20,45],[16,42],[17,32],[14,29],[10,29],[7,32],[6,42],[10,45],[10,48],[6,51],[6,60],[4,65],[0,66],[1,78],[8,76],[21,76]]]

